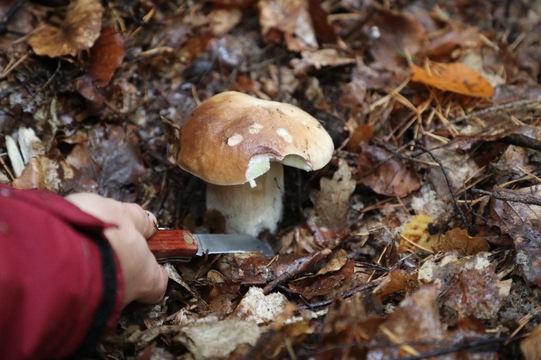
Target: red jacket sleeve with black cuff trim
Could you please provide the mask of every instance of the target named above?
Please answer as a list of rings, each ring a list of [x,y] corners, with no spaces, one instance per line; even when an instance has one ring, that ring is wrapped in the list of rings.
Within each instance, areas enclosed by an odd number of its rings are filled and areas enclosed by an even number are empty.
[[[0,185],[0,354],[54,359],[93,348],[123,282],[104,223],[60,196]]]

